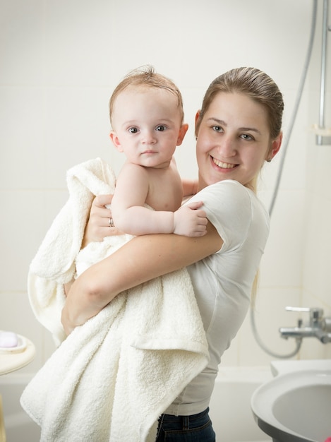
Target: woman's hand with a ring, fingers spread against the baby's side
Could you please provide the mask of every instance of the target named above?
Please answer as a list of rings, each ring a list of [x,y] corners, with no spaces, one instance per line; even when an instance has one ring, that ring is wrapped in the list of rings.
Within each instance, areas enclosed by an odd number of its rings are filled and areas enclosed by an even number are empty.
[[[104,237],[123,234],[112,222],[112,210],[107,205],[112,203],[112,195],[98,195],[92,202],[90,217],[85,227],[82,249],[92,241],[102,241]]]

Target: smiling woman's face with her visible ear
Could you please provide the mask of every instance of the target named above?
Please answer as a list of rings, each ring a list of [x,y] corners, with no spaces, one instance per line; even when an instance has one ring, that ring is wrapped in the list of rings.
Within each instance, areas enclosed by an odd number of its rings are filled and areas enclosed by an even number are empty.
[[[224,179],[250,184],[263,162],[276,155],[281,141],[282,135],[270,139],[261,104],[247,95],[219,92],[198,129],[199,189]]]

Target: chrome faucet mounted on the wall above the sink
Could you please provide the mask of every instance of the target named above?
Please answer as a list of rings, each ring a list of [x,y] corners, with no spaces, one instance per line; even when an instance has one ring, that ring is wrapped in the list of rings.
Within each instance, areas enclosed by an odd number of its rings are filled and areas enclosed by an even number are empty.
[[[323,317],[323,309],[319,307],[286,307],[287,311],[302,311],[309,313],[309,323],[303,325],[302,319],[299,319],[297,327],[279,328],[282,338],[296,338],[302,340],[307,337],[315,337],[323,344],[331,342],[331,318]]]

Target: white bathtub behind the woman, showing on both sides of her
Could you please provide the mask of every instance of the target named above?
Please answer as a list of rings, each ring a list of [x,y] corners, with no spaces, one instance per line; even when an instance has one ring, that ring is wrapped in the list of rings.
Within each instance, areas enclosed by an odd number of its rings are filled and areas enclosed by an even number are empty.
[[[38,442],[40,428],[20,407],[20,395],[31,376],[0,376],[7,442]],[[217,442],[270,442],[255,424],[251,412],[253,391],[272,378],[270,367],[222,368],[210,402],[210,417]]]

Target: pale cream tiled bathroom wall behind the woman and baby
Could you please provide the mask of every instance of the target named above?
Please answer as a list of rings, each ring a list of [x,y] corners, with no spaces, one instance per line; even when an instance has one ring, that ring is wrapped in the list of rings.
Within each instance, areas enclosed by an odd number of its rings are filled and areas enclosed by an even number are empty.
[[[193,121],[203,92],[223,71],[256,66],[284,92],[284,134],[306,56],[312,0],[0,0],[0,329],[37,347],[33,372],[54,350],[35,321],[26,292],[28,265],[67,198],[66,170],[102,157],[119,170],[109,138],[107,103],[132,68],[153,64],[183,92],[191,129],[176,153],[184,177],[196,174]],[[260,338],[285,354],[294,342],[287,305],[322,306],[331,316],[331,146],[317,146],[321,6],[306,87],[291,135],[261,265],[255,321]],[[331,54],[329,47],[329,72]],[[330,81],[327,123],[331,126]],[[269,205],[281,160],[263,171]],[[301,357],[331,357],[331,345],[306,340]],[[265,365],[249,317],[224,355],[226,365]]]

